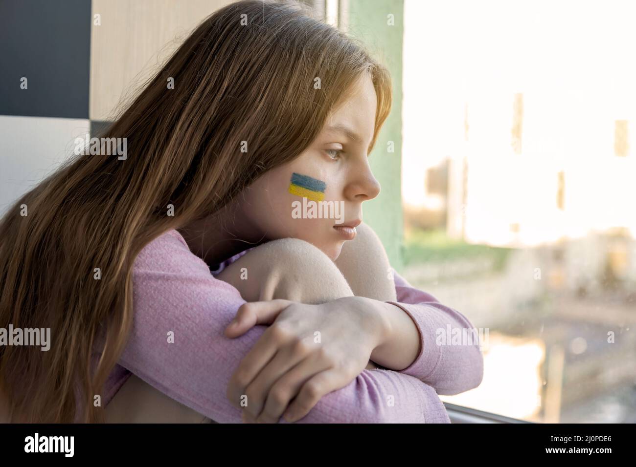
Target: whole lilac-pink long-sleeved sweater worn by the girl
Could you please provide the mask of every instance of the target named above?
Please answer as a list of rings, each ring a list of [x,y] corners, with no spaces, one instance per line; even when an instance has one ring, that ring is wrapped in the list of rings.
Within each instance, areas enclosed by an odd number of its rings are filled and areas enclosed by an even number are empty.
[[[438,346],[436,329],[472,328],[464,315],[394,275],[399,306],[415,321],[420,355],[403,370],[363,370],[344,388],[321,398],[296,423],[450,423],[438,394],[453,395],[481,382],[478,346]],[[178,402],[219,423],[241,423],[226,398],[230,376],[265,330],[241,337],[223,331],[245,301],[214,278],[181,234],[149,243],[133,268],[134,327],[106,383],[108,403],[131,372]],[[174,332],[174,343],[168,332]],[[97,354],[99,355],[99,353]],[[392,396],[390,398],[389,396]],[[279,423],[287,423],[280,419]]]

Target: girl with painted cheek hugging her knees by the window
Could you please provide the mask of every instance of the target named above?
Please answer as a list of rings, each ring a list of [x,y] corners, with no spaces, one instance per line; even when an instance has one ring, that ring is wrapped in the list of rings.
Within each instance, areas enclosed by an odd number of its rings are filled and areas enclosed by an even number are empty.
[[[437,393],[483,363],[435,332],[471,324],[361,223],[390,108],[386,69],[296,3],[207,18],[104,135],[126,159],[79,156],[4,217],[0,326],[52,336],[0,348],[6,417],[103,421],[141,381],[222,423],[448,423]]]

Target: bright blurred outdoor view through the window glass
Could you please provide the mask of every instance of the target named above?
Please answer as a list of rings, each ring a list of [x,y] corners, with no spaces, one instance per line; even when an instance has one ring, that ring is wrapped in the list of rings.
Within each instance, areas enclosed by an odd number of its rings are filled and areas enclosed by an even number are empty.
[[[404,1],[403,275],[488,328],[445,402],[636,422],[636,4]]]

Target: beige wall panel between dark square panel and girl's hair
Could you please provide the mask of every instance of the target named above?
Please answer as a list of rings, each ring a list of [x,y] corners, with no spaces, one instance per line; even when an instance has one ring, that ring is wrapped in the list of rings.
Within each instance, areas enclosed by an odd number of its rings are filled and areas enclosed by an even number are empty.
[[[93,0],[90,119],[114,119],[118,104],[132,97],[204,18],[228,3],[232,0]]]

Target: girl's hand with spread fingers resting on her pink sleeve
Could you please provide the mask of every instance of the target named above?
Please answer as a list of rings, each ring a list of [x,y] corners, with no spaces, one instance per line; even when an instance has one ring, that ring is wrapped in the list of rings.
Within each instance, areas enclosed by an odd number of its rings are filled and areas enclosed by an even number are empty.
[[[243,304],[225,330],[227,337],[271,324],[228,384],[228,399],[244,410],[244,421],[277,423],[283,412],[287,421],[300,420],[322,396],[353,381],[385,333],[382,317],[367,301],[344,297],[320,305],[287,300]]]

